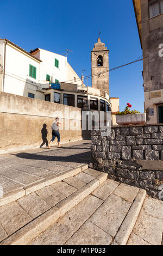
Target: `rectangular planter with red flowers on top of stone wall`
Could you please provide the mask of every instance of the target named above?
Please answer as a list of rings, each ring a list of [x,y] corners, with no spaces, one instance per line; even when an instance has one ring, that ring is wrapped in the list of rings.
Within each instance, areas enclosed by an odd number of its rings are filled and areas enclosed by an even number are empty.
[[[116,113],[116,122],[118,125],[134,125],[146,123],[146,113],[130,110],[131,107],[132,106],[130,103],[127,103],[127,107],[124,109],[124,111]]]

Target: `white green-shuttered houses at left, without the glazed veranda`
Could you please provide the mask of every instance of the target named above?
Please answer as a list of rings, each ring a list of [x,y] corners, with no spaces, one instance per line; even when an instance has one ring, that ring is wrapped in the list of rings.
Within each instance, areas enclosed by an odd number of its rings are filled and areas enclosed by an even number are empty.
[[[35,99],[45,100],[43,88],[67,80],[82,80],[57,53],[37,48],[31,53],[7,39],[0,39],[0,90]],[[72,82],[73,82],[72,81]]]

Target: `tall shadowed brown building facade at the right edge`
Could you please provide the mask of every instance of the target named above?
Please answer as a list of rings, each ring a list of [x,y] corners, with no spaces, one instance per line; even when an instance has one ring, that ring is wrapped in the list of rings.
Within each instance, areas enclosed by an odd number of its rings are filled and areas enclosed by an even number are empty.
[[[163,0],[133,0],[143,51],[147,124],[163,123]]]

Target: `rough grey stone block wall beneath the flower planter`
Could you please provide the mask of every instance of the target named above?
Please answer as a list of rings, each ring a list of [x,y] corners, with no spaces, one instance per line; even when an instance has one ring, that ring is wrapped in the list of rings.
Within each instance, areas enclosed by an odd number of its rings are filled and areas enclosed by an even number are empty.
[[[112,127],[108,137],[93,130],[92,167],[158,198],[163,185],[162,142],[163,125]]]

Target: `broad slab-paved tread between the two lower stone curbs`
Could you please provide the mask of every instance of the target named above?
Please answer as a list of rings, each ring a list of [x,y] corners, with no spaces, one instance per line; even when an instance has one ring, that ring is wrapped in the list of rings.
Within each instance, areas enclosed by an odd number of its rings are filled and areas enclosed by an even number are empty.
[[[145,197],[108,179],[30,245],[126,245]]]

